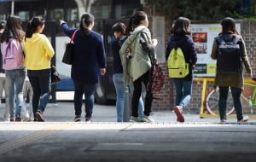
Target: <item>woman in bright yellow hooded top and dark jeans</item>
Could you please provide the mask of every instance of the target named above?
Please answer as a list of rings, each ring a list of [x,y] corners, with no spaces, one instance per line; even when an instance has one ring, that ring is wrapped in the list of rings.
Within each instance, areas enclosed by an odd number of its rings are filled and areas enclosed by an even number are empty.
[[[44,109],[50,95],[50,60],[55,54],[48,38],[41,34],[44,20],[34,17],[26,26],[23,42],[27,76],[32,84],[32,108],[34,121],[44,121]]]

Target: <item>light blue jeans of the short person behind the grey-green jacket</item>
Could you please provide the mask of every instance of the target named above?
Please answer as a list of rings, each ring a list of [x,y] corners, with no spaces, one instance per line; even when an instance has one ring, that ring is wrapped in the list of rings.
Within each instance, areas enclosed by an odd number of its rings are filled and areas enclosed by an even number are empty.
[[[123,122],[124,115],[124,103],[125,103],[125,90],[127,87],[124,85],[123,73],[114,73],[113,74],[113,85],[115,87],[117,99],[116,99],[116,112],[117,112],[117,122]],[[129,85],[130,86],[130,85]],[[133,90],[133,88],[132,88]],[[140,117],[143,116],[143,98],[139,100],[138,113]]]

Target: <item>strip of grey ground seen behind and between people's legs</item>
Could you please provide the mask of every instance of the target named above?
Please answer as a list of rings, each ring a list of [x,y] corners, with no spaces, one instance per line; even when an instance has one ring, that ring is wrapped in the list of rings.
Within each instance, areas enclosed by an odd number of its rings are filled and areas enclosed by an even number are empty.
[[[84,104],[82,109],[82,118],[84,118]],[[3,113],[0,113],[3,114]],[[3,117],[2,117],[3,118]],[[73,101],[57,101],[56,103],[49,103],[44,112],[44,118],[49,122],[73,122],[74,109]],[[171,110],[152,112],[151,118],[156,123],[176,123],[176,115]],[[199,114],[190,114],[184,111],[184,118],[186,123],[218,123],[218,118],[200,119]],[[0,118],[1,119],[1,118]],[[83,119],[84,120],[84,119]],[[116,122],[116,110],[112,105],[98,105],[95,104],[93,110],[92,120],[94,122]],[[227,122],[236,122],[236,119],[228,119]],[[256,119],[249,119],[249,122],[256,122]]]

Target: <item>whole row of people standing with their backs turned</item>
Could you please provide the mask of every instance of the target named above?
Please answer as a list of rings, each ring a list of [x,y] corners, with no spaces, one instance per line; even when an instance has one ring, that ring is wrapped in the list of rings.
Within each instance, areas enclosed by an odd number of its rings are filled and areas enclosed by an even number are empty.
[[[75,122],[82,120],[82,105],[84,95],[85,121],[90,122],[94,107],[94,93],[100,76],[106,72],[106,55],[102,36],[92,30],[95,18],[92,14],[84,13],[81,16],[79,29],[70,28],[67,22],[61,20],[61,28],[69,38],[74,35],[74,54],[71,67],[71,78],[74,83],[74,111]],[[222,32],[218,37],[237,35],[235,21],[231,18],[222,20]],[[147,86],[152,78],[151,55],[158,41],[152,38],[148,29],[148,16],[143,11],[133,14],[125,26],[116,23],[112,27],[114,38],[111,41],[113,53],[113,84],[116,89],[117,121],[123,121],[125,90],[133,89],[131,97],[131,121],[154,122],[149,118],[153,101],[153,94]],[[10,39],[18,40],[24,55],[19,68],[4,70],[7,79],[7,93],[10,121],[20,121],[22,104],[22,88],[26,78],[32,84],[32,109],[34,121],[44,121],[44,109],[50,95],[50,61],[55,54],[48,38],[41,34],[44,30],[44,20],[33,17],[22,31],[20,17],[11,15],[7,20],[1,43]],[[184,78],[172,78],[176,90],[174,113],[177,122],[184,122],[183,110],[188,106],[192,95],[193,71],[197,61],[197,54],[193,39],[190,35],[190,20],[179,17],[172,27],[172,36],[167,43],[166,59],[173,48],[181,48],[185,61],[189,63],[189,74]],[[146,41],[145,41],[146,39]],[[146,42],[146,43],[145,43]],[[245,63],[248,76],[253,77],[252,69],[247,59],[243,39],[240,40],[242,61]],[[3,50],[2,50],[3,51]],[[3,54],[4,55],[4,54]],[[218,43],[214,41],[212,59],[218,60]],[[243,87],[242,71],[233,75],[216,75],[215,87],[219,87],[219,112],[221,122],[226,121],[225,109],[227,91],[231,87],[236,108],[237,120],[246,122],[247,117],[242,115],[241,91]],[[234,81],[235,80],[235,81]],[[236,82],[236,83],[235,83]],[[146,95],[143,97],[143,90]],[[143,101],[144,98],[144,101]]]

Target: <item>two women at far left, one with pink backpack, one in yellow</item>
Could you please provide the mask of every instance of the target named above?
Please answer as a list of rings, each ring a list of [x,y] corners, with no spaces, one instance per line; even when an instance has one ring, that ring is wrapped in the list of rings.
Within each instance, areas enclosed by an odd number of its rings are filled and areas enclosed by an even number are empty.
[[[9,106],[9,121],[11,122],[21,121],[20,111],[23,105],[26,76],[32,85],[34,121],[44,121],[44,108],[49,101],[51,87],[50,61],[55,52],[49,39],[41,34],[43,30],[42,17],[33,17],[27,23],[26,32],[24,32],[20,17],[10,15],[1,34],[2,67],[5,72],[6,93],[8,94],[6,104]],[[8,50],[11,50],[12,56],[8,55]],[[5,66],[8,61],[15,63]]]

